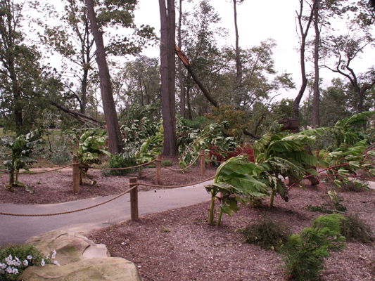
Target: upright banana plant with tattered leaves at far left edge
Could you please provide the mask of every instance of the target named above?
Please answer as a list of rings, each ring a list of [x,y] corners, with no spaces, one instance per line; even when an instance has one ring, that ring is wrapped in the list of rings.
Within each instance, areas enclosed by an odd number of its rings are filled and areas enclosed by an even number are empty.
[[[25,188],[30,194],[34,193],[32,188],[18,181],[18,174],[20,169],[28,170],[28,166],[37,162],[32,157],[32,154],[35,148],[43,143],[40,131],[31,131],[25,136],[18,136],[14,140],[2,138],[0,142],[6,148],[6,152],[3,153],[2,157],[6,159],[3,164],[9,173],[9,184],[5,185],[5,189],[13,191],[14,187],[19,186]]]

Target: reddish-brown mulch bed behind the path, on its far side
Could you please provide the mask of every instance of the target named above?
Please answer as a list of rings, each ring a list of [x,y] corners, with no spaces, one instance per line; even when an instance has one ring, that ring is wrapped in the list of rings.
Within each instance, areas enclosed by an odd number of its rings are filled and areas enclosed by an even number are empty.
[[[174,165],[170,167],[177,169]],[[31,171],[45,171],[46,169],[31,169]],[[207,168],[205,175],[201,176],[199,166],[189,168],[185,173],[162,169],[160,185],[189,185],[203,181],[215,175],[216,169]],[[53,171],[45,174],[25,174],[19,176],[19,181],[30,186],[34,194],[26,192],[24,188],[16,187],[14,192],[4,189],[8,183],[8,175],[0,174],[0,203],[15,204],[48,204],[60,203],[85,198],[117,195],[129,188],[129,177],[138,177],[139,174],[128,174],[127,176],[103,176],[102,171],[89,169],[89,174],[97,182],[96,185],[84,183],[80,187],[80,193],[72,192],[72,168]],[[155,168],[144,169],[138,182],[153,184],[155,179]],[[139,190],[153,190],[154,187],[139,185]],[[157,188],[160,189],[160,188]]]

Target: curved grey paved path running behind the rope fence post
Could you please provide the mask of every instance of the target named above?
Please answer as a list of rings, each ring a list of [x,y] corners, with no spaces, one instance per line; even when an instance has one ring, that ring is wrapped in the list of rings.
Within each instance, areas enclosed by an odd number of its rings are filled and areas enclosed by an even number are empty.
[[[139,216],[205,202],[210,199],[210,195],[206,192],[204,186],[212,182],[206,181],[205,183],[184,188],[140,191],[138,192]],[[0,211],[15,214],[56,213],[89,207],[114,196],[110,195],[59,204],[0,204]],[[96,228],[103,228],[120,221],[126,221],[129,218],[129,194],[93,209],[72,214],[42,217],[0,215],[0,245],[22,243],[31,236],[55,229],[86,233]]]

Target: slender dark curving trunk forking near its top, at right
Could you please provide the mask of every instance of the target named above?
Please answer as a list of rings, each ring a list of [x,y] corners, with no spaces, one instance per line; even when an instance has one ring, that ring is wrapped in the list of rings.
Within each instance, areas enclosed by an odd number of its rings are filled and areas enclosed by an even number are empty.
[[[307,18],[307,25],[305,28],[303,27],[303,2],[305,0],[300,0],[300,12],[297,13],[297,19],[298,19],[298,27],[300,30],[300,68],[301,68],[301,76],[302,76],[302,84],[300,86],[300,91],[298,92],[298,95],[295,97],[295,100],[293,102],[293,119],[298,120],[299,113],[300,113],[300,100],[303,97],[303,93],[305,93],[305,89],[307,86],[307,77],[306,77],[306,67],[305,67],[305,46],[306,46],[306,38],[307,33],[309,32],[312,17],[313,17],[313,11],[314,8],[312,7],[310,11],[310,15]]]

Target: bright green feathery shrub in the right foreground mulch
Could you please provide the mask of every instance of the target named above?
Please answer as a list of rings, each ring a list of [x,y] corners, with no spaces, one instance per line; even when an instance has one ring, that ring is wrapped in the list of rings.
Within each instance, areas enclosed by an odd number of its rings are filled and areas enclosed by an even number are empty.
[[[345,238],[341,236],[343,216],[330,214],[316,218],[311,228],[291,235],[281,247],[284,268],[288,280],[317,280],[324,266],[324,258],[330,251],[343,249]]]

